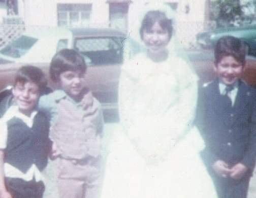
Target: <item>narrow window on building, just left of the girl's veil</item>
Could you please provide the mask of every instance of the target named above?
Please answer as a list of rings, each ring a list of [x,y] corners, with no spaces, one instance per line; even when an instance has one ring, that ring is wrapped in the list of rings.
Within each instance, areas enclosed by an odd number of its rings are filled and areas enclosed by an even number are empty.
[[[127,13],[129,3],[110,3],[109,4],[109,18],[110,26],[126,31],[127,29]]]

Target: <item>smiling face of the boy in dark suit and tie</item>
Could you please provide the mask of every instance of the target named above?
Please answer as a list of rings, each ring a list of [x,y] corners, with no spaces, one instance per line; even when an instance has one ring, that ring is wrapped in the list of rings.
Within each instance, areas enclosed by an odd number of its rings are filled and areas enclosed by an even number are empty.
[[[233,56],[223,56],[215,65],[214,71],[221,82],[232,85],[242,76],[244,65]]]

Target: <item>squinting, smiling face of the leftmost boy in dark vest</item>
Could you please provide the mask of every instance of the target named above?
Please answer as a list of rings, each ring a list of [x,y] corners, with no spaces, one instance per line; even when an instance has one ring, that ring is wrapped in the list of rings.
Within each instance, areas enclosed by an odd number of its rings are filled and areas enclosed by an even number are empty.
[[[30,115],[40,96],[38,85],[33,82],[17,82],[12,92],[20,112]]]

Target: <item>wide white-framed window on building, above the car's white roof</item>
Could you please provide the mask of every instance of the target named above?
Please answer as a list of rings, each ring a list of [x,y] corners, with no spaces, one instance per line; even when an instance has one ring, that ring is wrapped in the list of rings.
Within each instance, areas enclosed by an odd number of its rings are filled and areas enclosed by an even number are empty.
[[[58,4],[58,26],[88,26],[91,4]]]

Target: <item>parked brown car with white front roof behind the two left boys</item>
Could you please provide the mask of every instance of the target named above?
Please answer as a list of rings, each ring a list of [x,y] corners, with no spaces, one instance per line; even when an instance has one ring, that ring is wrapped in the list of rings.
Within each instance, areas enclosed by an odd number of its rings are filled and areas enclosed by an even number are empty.
[[[112,28],[27,30],[0,50],[0,90],[13,84],[15,72],[24,64],[36,65],[48,76],[52,56],[60,49],[70,48],[79,51],[88,66],[86,85],[103,104],[105,112],[113,110],[126,39],[125,34]],[[132,40],[129,46],[139,49]],[[51,81],[49,86],[55,88]]]

